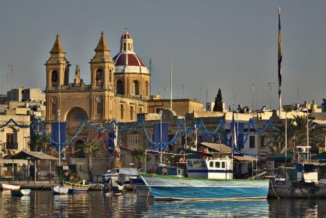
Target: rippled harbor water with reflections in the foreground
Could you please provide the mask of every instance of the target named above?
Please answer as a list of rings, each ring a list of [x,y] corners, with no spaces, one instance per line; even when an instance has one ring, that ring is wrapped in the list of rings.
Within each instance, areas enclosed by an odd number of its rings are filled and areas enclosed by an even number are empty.
[[[53,196],[32,191],[12,197],[0,192],[0,217],[326,217],[326,199],[248,201],[153,201],[126,192]]]

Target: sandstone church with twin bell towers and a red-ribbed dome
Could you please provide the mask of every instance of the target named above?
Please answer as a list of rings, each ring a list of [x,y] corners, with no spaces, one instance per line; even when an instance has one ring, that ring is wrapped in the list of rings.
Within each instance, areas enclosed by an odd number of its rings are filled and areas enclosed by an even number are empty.
[[[137,121],[137,114],[157,113],[170,108],[169,99],[151,97],[151,75],[144,61],[134,51],[133,37],[126,31],[120,39],[120,50],[113,58],[101,33],[90,59],[90,84],[80,77],[75,68],[73,83],[69,80],[70,63],[65,57],[59,35],[46,61],[46,123],[67,121],[67,138],[77,132],[78,126],[88,119],[95,126],[102,126],[116,119],[119,122]],[[184,116],[193,110],[202,110],[202,102],[191,99],[175,99],[173,107],[177,115]],[[60,111],[58,117],[57,111]],[[97,137],[97,132],[84,128],[70,145],[70,152]],[[127,145],[126,145],[127,146]],[[128,146],[127,146],[128,147]]]

